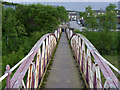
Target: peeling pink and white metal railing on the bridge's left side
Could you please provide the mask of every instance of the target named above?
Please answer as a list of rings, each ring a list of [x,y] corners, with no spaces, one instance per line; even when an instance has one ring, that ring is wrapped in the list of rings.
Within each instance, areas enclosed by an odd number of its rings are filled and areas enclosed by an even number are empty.
[[[61,28],[54,33],[44,35],[28,55],[10,69],[6,66],[5,74],[0,82],[6,78],[6,88],[38,88],[44,77],[50,57],[60,38]],[[12,78],[11,73],[16,70]]]

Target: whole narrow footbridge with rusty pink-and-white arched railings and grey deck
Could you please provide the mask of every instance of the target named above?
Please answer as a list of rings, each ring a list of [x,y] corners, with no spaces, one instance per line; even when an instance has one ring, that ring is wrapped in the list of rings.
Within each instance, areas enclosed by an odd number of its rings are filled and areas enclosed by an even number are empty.
[[[51,61],[53,64],[48,70]],[[48,77],[45,77],[46,72],[49,72]],[[86,37],[68,28],[63,32],[58,28],[40,38],[15,66],[7,65],[0,82],[6,79],[5,89],[41,88],[43,82],[44,88],[119,89],[114,72],[120,75]]]

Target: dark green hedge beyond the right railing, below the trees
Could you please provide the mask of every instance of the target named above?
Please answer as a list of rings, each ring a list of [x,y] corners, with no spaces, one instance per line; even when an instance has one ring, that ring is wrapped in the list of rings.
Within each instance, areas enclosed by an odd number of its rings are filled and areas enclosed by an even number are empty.
[[[118,32],[78,32],[82,33],[102,55],[119,54]]]

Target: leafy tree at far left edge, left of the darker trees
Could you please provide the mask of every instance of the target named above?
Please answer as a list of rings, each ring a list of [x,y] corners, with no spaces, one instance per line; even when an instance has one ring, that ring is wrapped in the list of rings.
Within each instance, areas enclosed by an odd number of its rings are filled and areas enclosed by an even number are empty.
[[[4,9],[2,15],[2,40],[3,40],[3,54],[16,51],[19,44],[22,42],[24,35],[26,35],[25,27],[16,19],[12,8]],[[17,43],[17,44],[16,44]]]

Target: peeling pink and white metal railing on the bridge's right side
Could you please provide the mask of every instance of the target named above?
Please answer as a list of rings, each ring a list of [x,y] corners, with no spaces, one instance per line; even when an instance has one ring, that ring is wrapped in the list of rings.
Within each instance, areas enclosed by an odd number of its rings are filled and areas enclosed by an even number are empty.
[[[87,87],[119,89],[120,82],[111,68],[118,75],[120,75],[120,71],[104,59],[83,35],[74,34],[69,29],[66,30],[66,33]]]

